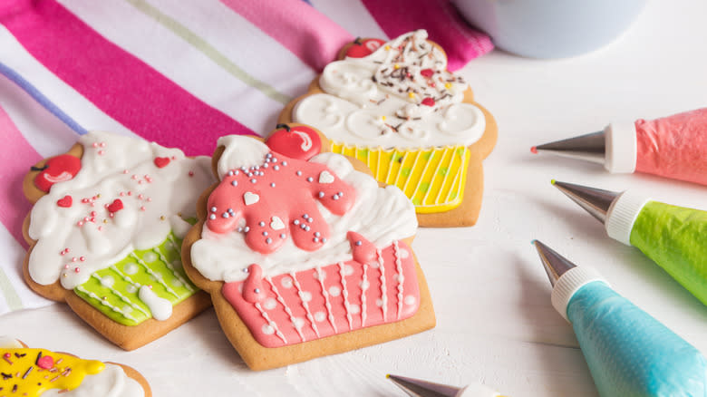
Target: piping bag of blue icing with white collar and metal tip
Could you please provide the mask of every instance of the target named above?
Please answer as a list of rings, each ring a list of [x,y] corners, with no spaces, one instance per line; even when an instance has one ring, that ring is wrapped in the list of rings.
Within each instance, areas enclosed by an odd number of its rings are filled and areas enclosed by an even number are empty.
[[[552,305],[572,324],[602,396],[704,396],[707,362],[591,267],[533,241],[552,284]]]

